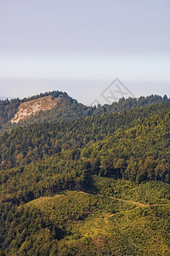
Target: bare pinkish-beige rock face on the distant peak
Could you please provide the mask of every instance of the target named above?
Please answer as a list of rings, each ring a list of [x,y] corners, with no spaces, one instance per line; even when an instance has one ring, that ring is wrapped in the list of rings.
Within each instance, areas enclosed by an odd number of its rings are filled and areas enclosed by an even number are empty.
[[[14,118],[11,119],[11,123],[18,123],[20,120],[27,119],[31,114],[35,115],[40,111],[47,111],[54,108],[59,102],[60,97],[53,98],[52,96],[45,96],[32,100],[31,102],[23,102],[19,106],[19,111],[15,113]]]

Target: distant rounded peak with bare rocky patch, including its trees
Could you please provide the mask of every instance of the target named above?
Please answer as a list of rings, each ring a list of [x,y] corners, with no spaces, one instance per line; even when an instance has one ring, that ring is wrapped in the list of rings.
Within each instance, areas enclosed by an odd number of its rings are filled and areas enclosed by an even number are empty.
[[[35,122],[78,119],[88,115],[88,112],[88,107],[60,91],[46,92],[22,100],[0,101],[0,132]]]

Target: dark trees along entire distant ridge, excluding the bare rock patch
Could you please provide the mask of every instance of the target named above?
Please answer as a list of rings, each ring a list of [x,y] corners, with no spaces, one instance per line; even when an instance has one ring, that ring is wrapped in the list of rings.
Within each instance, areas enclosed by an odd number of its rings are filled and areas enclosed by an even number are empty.
[[[59,97],[62,99],[59,101],[59,104],[56,104],[56,107],[47,110],[47,111],[40,111],[35,115],[31,115],[31,117],[23,120],[20,120],[19,124],[11,123],[10,120],[14,118],[14,114],[17,113],[20,103],[23,102],[31,102],[32,100],[36,100],[38,98],[44,96],[53,96],[54,98]],[[31,96],[29,98],[24,98],[22,100],[12,99],[11,101],[0,100],[0,133],[5,131],[10,131],[15,127],[20,125],[31,125],[33,123],[42,123],[42,122],[61,122],[64,120],[75,120],[81,117],[92,116],[93,114],[103,114],[103,113],[112,113],[112,112],[119,112],[123,109],[131,109],[131,108],[139,108],[144,106],[150,106],[162,102],[168,102],[169,99],[167,96],[141,96],[139,99],[136,98],[122,98],[119,102],[113,102],[111,105],[105,104],[104,106],[98,105],[96,107],[87,107],[81,103],[78,103],[76,100],[72,99],[68,96],[65,92],[61,91],[52,91],[41,93],[37,96]]]

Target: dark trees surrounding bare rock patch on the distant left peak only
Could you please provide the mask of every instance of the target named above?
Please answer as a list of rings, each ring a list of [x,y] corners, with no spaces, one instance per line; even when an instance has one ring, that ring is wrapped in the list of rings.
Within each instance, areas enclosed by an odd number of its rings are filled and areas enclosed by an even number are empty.
[[[44,96],[53,96],[54,98],[59,97],[61,100],[59,104],[52,110],[40,111],[36,115],[31,115],[30,118],[20,120],[19,124],[11,123],[10,120],[14,118],[14,114],[17,113],[18,108],[23,102],[31,102]],[[79,104],[76,100],[73,100],[66,93],[60,91],[46,92],[39,96],[32,96],[30,98],[24,98],[23,100],[14,99],[11,101],[5,100],[0,101],[0,132],[9,131],[14,127],[20,125],[29,125],[34,122],[43,121],[61,121],[65,119],[78,119],[79,117],[86,116],[90,113],[90,109],[82,104]]]

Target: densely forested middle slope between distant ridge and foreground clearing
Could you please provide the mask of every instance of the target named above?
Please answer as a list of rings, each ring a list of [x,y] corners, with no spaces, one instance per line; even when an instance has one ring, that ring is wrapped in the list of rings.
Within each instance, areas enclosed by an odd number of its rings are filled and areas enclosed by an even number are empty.
[[[0,138],[1,199],[88,190],[92,175],[170,183],[169,127],[170,102],[17,128]]]

